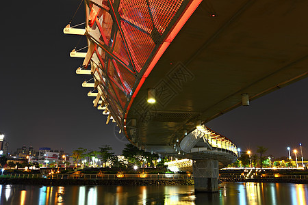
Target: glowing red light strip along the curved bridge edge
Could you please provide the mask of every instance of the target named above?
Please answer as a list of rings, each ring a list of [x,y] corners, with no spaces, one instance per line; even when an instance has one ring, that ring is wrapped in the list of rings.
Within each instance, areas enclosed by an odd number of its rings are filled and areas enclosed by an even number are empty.
[[[153,59],[151,60],[151,63],[149,64],[149,67],[144,72],[142,79],[140,80],[138,86],[136,87],[135,92],[133,92],[133,96],[131,96],[131,100],[129,102],[129,105],[127,106],[127,110],[126,110],[126,113],[125,113],[125,117],[124,117],[125,120],[127,119],[127,115],[128,115],[129,109],[131,108],[133,100],[134,100],[134,98],[136,98],[136,96],[137,96],[141,86],[143,85],[146,77],[149,76],[150,72],[153,70],[154,66],[157,64],[157,61],[160,59],[160,57],[162,57],[162,55],[164,54],[164,52],[166,51],[166,49],[168,48],[168,46],[170,45],[172,40],[175,38],[175,36],[177,36],[177,33],[179,33],[179,31],[181,30],[183,25],[188,20],[188,18],[190,18],[192,13],[194,13],[194,10],[196,10],[196,8],[198,8],[198,5],[201,3],[201,1],[202,0],[192,0],[190,2],[190,4],[186,7],[185,11],[183,12],[182,16],[179,18],[179,20],[177,20],[177,23],[175,23],[174,27],[172,27],[172,29],[170,30],[170,32],[169,32],[166,40],[164,41],[164,43],[161,46],[159,46],[159,48],[157,49]],[[112,10],[113,10],[113,8],[112,8]],[[126,128],[125,128],[125,132],[126,132]]]

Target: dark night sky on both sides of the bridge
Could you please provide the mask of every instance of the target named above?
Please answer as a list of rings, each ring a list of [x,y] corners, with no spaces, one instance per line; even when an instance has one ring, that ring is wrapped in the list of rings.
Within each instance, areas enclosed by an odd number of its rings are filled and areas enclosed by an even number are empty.
[[[0,132],[9,150],[21,146],[96,150],[110,145],[120,154],[125,142],[114,134],[115,124],[92,107],[90,79],[75,70],[82,59],[69,53],[79,36],[64,35],[80,1],[3,1],[1,11]],[[71,25],[84,22],[84,4]],[[85,38],[78,48],[83,47]],[[298,81],[209,122],[242,150],[268,148],[287,155],[286,147],[303,144],[308,155],[308,79]],[[307,150],[307,152],[306,152]]]

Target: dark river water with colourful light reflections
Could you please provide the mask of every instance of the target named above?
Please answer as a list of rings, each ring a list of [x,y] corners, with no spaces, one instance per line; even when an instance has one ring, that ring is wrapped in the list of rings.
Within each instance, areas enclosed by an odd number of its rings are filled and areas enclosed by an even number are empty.
[[[0,185],[0,204],[307,204],[307,184],[223,182],[218,193],[194,186]]]

